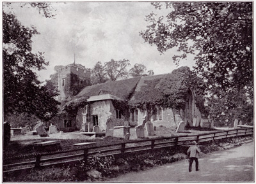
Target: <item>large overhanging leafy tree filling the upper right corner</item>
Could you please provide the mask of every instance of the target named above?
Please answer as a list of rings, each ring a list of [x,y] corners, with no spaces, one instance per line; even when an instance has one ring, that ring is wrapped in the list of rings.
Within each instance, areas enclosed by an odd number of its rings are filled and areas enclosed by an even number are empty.
[[[161,3],[152,3],[156,8]],[[246,90],[252,97],[252,2],[166,3],[166,17],[147,15],[147,30],[140,32],[163,53],[177,47],[179,64],[188,53],[196,54],[196,73],[213,94],[229,88]]]

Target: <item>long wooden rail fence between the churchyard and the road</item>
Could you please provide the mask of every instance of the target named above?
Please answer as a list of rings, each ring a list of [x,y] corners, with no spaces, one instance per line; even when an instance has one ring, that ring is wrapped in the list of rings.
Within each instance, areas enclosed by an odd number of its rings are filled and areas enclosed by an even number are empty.
[[[168,138],[141,139],[134,141],[124,141],[123,143],[112,143],[104,145],[88,145],[81,148],[62,150],[50,153],[37,153],[33,155],[23,155],[15,157],[17,159],[26,158],[26,162],[16,162],[3,165],[3,173],[20,171],[23,169],[32,169],[33,167],[54,166],[56,164],[65,164],[77,162],[79,160],[87,160],[92,158],[96,153],[108,155],[124,155],[125,153],[145,152],[157,148],[166,148],[172,146],[186,145],[191,141],[202,143],[216,139],[232,138],[238,136],[248,136],[253,134],[253,128],[233,129],[227,131],[213,131],[205,134],[175,136]],[[71,153],[71,155],[65,155]],[[64,155],[63,155],[64,154]],[[54,155],[55,157],[52,157]],[[29,157],[29,159],[28,159]],[[12,160],[11,158],[9,160]]]

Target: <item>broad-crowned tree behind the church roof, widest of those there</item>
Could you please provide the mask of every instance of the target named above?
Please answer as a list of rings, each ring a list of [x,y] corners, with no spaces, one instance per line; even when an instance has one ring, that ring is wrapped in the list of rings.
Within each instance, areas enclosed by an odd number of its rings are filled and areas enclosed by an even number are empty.
[[[127,66],[130,66],[130,61],[127,59],[113,60],[105,62],[104,70],[111,81],[116,81],[118,78],[127,78]]]

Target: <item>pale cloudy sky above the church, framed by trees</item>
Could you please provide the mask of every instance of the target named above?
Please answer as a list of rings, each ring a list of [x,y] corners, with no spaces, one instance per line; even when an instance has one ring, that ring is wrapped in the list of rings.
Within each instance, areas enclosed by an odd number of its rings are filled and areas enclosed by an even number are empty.
[[[148,2],[52,3],[56,17],[45,18],[35,8],[20,8],[12,3],[13,12],[23,25],[34,25],[40,35],[33,37],[33,52],[44,52],[49,61],[46,70],[38,72],[39,80],[49,79],[54,66],[74,62],[92,68],[96,62],[129,59],[131,65],[144,64],[155,74],[170,73],[176,68],[172,57],[177,48],[164,55],[156,46],[145,43],[139,32],[147,29],[144,20],[149,13],[167,14]],[[193,66],[193,57],[180,66]]]

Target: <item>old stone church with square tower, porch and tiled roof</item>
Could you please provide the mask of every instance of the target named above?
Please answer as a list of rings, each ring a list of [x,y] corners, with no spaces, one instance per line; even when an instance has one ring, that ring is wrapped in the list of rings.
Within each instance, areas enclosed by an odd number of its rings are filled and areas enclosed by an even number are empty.
[[[108,118],[114,120],[115,126],[129,124],[134,127],[143,122],[146,111],[140,109],[129,110],[120,104],[128,103],[132,97],[147,85],[145,81],[163,79],[169,74],[153,76],[138,76],[118,81],[107,81],[97,85],[90,85],[90,70],[84,67],[70,64],[58,71],[59,101],[79,101],[86,98],[86,105],[79,106],[76,115],[70,117],[67,114],[60,114],[54,117],[51,122],[58,125],[62,131],[80,130],[92,132],[93,126],[99,126],[99,131],[106,131]],[[180,120],[186,124],[203,125],[204,117],[196,106],[196,94],[193,89],[188,91],[188,102],[185,111],[175,111],[169,108],[156,106],[151,122],[154,126],[177,127]],[[196,124],[195,124],[196,119]],[[209,126],[204,124],[204,126]]]

